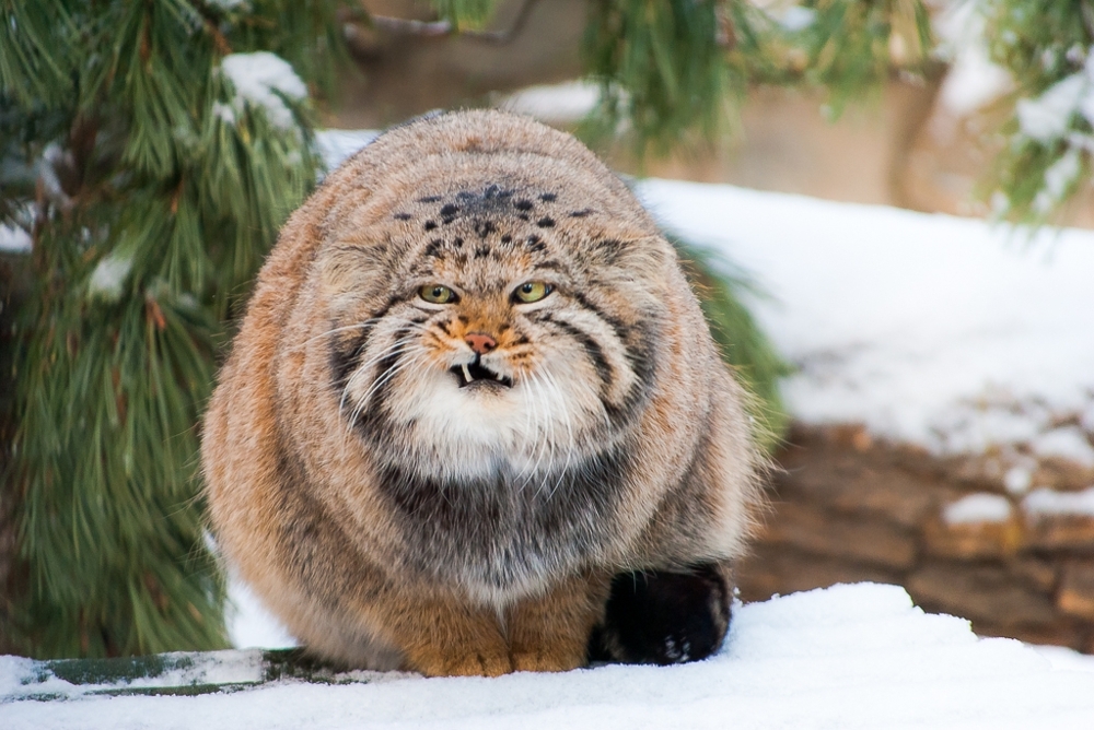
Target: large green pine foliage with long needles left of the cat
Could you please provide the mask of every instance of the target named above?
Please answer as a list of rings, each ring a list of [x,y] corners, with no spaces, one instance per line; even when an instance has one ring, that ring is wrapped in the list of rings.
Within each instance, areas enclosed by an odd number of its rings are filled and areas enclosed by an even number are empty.
[[[20,497],[27,654],[224,644],[195,424],[222,322],[318,161],[294,78],[257,98],[222,62],[275,50],[329,82],[337,5],[0,7],[0,222],[34,240],[2,496]]]

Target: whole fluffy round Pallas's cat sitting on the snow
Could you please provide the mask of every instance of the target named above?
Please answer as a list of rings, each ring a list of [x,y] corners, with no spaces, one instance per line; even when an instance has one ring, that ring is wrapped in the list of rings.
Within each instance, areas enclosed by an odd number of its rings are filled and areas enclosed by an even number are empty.
[[[760,503],[745,403],[592,153],[497,111],[423,118],[281,232],[206,419],[212,525],[342,666],[699,659]]]

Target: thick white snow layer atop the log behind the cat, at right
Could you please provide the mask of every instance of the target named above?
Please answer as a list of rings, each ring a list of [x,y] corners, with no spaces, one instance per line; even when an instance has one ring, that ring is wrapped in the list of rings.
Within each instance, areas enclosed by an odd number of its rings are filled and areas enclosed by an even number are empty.
[[[798,367],[783,387],[796,419],[861,423],[936,454],[1035,445],[1085,462],[1089,436],[1054,435],[1051,422],[1094,408],[1094,232],[1031,237],[695,182],[638,191],[767,293],[749,304]]]

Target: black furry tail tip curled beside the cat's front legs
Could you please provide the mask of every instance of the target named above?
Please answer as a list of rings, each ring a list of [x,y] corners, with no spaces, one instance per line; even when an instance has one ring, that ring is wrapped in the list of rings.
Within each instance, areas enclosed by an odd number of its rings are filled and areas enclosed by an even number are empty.
[[[730,623],[730,587],[712,565],[688,573],[622,573],[612,581],[590,658],[678,664],[718,650]]]

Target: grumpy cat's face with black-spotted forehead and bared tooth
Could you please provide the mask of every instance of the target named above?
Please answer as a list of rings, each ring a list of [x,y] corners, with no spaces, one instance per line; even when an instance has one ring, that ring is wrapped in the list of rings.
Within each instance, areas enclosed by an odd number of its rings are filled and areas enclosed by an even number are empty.
[[[626,431],[662,316],[648,236],[519,181],[383,208],[319,260],[348,429],[422,475],[543,480]]]

